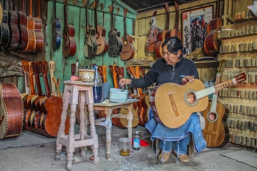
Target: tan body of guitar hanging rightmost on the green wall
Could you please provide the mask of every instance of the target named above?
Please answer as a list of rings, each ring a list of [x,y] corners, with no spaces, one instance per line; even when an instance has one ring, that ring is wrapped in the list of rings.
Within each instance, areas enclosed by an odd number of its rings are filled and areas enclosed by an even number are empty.
[[[124,35],[121,37],[123,46],[122,46],[122,51],[120,54],[120,59],[122,61],[132,59],[135,54],[135,47],[132,44],[133,38],[128,34],[126,34],[125,36],[126,36],[126,38],[124,37]]]

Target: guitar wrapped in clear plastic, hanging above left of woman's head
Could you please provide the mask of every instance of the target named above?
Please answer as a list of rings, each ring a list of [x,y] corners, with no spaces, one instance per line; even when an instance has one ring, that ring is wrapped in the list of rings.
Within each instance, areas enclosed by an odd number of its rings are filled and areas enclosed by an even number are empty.
[[[146,40],[145,50],[146,53],[154,53],[155,52],[155,45],[157,43],[157,35],[158,35],[158,27],[156,26],[155,22],[155,16],[157,14],[157,11],[153,12],[152,18],[151,18],[151,27],[148,31],[148,37]]]

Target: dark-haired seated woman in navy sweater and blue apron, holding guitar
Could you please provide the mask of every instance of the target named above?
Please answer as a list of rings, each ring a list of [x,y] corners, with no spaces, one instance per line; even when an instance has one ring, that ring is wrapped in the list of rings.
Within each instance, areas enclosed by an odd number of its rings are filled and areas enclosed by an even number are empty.
[[[170,37],[162,44],[163,59],[157,60],[148,73],[140,79],[121,79],[120,85],[131,85],[132,87],[148,87],[153,83],[156,85],[173,82],[177,84],[193,82],[198,79],[195,64],[182,57],[182,42],[177,37]],[[182,162],[189,162],[187,156],[190,135],[194,136],[197,153],[206,148],[206,141],[201,132],[199,116],[192,113],[188,121],[178,128],[168,128],[159,124],[153,117],[153,111],[149,111],[149,122],[145,127],[151,132],[151,140],[160,140],[161,153],[158,160],[166,162],[169,160],[171,151]]]

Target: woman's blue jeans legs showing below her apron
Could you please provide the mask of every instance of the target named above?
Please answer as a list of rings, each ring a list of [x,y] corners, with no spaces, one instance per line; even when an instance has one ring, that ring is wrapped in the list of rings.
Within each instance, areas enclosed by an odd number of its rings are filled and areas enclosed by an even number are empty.
[[[164,153],[170,153],[173,148],[176,153],[179,151],[179,155],[185,155],[188,152],[189,141],[190,135],[182,140],[179,140],[179,143],[177,141],[164,142],[163,140],[159,140],[159,148],[161,151],[164,151]]]

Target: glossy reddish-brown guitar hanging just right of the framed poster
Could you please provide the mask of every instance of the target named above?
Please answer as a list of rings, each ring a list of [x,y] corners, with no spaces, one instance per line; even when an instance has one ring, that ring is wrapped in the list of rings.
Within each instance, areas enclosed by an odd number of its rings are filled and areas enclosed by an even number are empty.
[[[217,31],[221,30],[222,26],[222,18],[219,16],[219,1],[217,2],[217,16],[216,18],[212,19],[210,21],[209,27],[210,31],[209,34],[205,37],[204,42],[204,50],[207,55],[209,56],[216,56],[216,54],[219,52],[219,42],[217,39]]]

